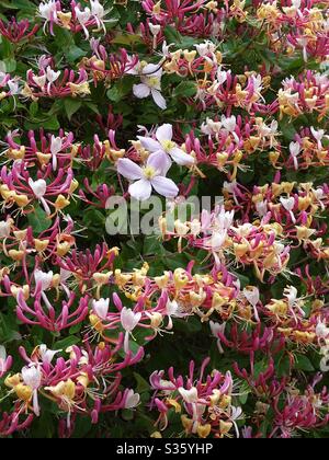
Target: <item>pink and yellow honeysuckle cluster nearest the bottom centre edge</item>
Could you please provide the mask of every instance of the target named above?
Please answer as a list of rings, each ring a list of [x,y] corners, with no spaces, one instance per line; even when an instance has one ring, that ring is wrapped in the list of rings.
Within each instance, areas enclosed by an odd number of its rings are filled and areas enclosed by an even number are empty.
[[[211,433],[217,438],[230,436],[236,428],[236,421],[242,417],[241,407],[232,403],[234,381],[230,372],[226,375],[213,370],[205,376],[205,368],[209,359],[205,359],[197,380],[194,379],[194,361],[190,363],[189,377],[174,377],[173,368],[164,372],[155,371],[150,376],[150,384],[155,390],[151,405],[156,406],[160,415],[157,424],[166,429],[169,413],[180,415],[185,433],[197,434],[206,438]]]

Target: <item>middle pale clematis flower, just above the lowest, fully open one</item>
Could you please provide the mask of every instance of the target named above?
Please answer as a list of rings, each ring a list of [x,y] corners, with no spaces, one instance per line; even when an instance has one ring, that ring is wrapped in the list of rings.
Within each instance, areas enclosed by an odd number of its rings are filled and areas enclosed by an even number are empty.
[[[194,164],[194,158],[180,149],[175,142],[172,141],[172,125],[164,124],[159,126],[156,130],[156,139],[151,137],[138,136],[141,146],[150,152],[163,152],[167,157],[168,163],[170,158],[180,164],[191,166]]]

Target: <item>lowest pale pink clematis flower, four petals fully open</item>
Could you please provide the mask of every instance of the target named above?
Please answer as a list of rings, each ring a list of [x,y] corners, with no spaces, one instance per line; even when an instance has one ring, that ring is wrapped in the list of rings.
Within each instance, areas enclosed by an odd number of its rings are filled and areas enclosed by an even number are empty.
[[[150,154],[143,168],[127,158],[117,162],[120,174],[129,181],[137,181],[129,186],[129,194],[140,202],[150,197],[152,188],[166,198],[174,198],[178,195],[177,185],[166,177],[169,168],[170,164],[163,152]]]

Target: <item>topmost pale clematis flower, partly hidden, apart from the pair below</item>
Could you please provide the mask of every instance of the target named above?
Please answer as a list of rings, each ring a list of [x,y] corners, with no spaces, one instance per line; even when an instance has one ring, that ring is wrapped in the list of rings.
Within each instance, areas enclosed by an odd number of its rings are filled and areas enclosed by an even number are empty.
[[[145,99],[151,95],[158,107],[162,110],[167,108],[166,100],[161,94],[161,65],[148,64],[139,72],[138,70],[134,70],[127,73],[139,74],[140,77],[141,83],[134,84],[133,87],[133,92],[136,97]]]

